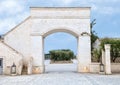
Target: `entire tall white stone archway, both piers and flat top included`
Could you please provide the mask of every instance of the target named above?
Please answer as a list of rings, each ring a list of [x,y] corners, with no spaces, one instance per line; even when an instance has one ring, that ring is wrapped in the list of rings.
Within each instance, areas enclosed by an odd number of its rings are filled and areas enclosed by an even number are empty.
[[[55,32],[77,37],[77,71],[90,72],[90,8],[31,8],[31,22],[31,56],[36,73],[43,73],[45,68],[43,39]]]

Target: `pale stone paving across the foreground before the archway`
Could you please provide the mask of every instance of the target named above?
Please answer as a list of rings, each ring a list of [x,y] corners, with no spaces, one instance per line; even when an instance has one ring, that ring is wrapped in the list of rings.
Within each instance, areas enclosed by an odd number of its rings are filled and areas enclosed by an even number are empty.
[[[120,75],[50,72],[38,75],[0,76],[0,85],[120,85]]]

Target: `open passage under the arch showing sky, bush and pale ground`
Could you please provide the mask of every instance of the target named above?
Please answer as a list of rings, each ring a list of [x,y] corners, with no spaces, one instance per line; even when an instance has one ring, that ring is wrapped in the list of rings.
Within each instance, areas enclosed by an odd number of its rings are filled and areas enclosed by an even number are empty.
[[[59,52],[65,50],[73,52],[73,56],[64,55],[62,52],[56,57],[57,61],[50,58],[50,51],[58,50]],[[67,51],[67,52],[68,52]],[[77,71],[77,38],[65,32],[57,32],[48,35],[44,39],[44,53],[45,53],[45,72],[76,72]],[[68,60],[66,60],[68,59]],[[70,59],[70,60],[69,60]]]

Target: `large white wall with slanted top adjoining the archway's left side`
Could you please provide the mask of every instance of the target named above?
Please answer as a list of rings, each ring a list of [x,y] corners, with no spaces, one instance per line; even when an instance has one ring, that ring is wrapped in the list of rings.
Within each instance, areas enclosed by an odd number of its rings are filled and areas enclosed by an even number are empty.
[[[30,17],[8,32],[4,37],[4,42],[23,54],[30,56]]]

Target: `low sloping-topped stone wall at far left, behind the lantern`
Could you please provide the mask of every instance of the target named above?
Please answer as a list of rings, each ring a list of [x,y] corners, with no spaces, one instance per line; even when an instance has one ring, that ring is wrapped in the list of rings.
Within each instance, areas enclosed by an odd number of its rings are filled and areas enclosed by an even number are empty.
[[[17,74],[21,74],[23,56],[0,41],[0,58],[3,58],[3,74],[10,74],[13,62],[17,66]]]

